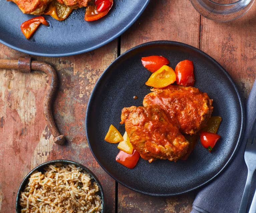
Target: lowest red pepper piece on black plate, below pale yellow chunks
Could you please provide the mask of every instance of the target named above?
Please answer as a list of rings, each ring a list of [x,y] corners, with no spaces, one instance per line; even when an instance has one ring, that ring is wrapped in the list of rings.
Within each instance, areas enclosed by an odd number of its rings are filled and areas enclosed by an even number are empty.
[[[133,154],[127,154],[126,152],[120,150],[115,157],[115,160],[129,169],[133,169],[136,166],[139,158],[140,154],[135,149],[133,151]]]

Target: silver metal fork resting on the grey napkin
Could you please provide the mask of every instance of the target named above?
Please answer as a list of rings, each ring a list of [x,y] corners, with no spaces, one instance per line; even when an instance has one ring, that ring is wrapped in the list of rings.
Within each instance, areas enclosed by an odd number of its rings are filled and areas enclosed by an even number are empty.
[[[245,183],[244,193],[240,204],[238,213],[245,213],[248,202],[250,185],[252,182],[252,176],[256,170],[256,119],[253,122],[251,132],[247,139],[247,144],[244,152],[244,160],[248,168],[247,179]]]

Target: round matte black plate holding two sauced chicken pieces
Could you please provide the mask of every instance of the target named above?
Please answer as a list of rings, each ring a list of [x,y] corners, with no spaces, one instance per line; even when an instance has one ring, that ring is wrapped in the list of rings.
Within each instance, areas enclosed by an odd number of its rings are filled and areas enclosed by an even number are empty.
[[[195,87],[208,93],[214,100],[213,115],[223,119],[218,131],[221,139],[211,153],[199,142],[186,161],[157,160],[149,163],[140,158],[134,169],[115,161],[119,152],[117,144],[104,141],[104,137],[110,124],[123,134],[124,125],[119,124],[121,109],[141,106],[144,96],[150,92],[145,82],[151,73],[141,64],[141,57],[149,55],[165,56],[173,68],[179,61],[193,61]],[[90,149],[110,176],[137,192],[171,196],[194,190],[225,169],[240,144],[244,110],[233,80],[213,58],[183,43],[156,41],[128,50],[109,65],[92,91],[85,123]]]

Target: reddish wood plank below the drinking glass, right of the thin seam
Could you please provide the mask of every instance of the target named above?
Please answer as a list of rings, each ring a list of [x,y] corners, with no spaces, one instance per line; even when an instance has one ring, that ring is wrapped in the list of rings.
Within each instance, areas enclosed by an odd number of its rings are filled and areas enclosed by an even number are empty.
[[[241,18],[218,23],[202,17],[201,50],[217,60],[231,75],[244,98],[255,80],[256,5]]]

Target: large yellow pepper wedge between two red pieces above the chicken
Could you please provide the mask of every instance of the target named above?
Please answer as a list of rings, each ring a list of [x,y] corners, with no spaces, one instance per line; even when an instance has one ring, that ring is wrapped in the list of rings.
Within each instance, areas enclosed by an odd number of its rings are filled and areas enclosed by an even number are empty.
[[[164,65],[154,72],[145,84],[151,87],[162,88],[173,84],[175,81],[175,71],[171,67]]]

